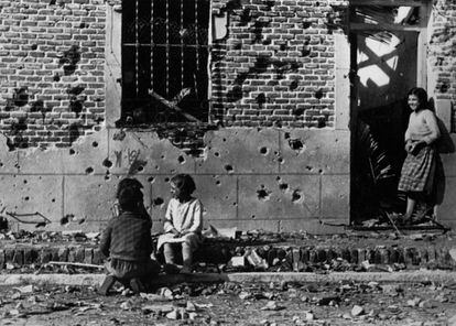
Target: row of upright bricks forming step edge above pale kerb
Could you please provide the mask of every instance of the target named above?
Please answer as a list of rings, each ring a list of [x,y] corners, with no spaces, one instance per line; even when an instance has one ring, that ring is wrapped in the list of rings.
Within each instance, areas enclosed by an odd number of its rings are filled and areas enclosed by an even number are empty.
[[[240,249],[240,250],[239,250]],[[269,265],[274,260],[286,261],[293,267],[294,271],[300,270],[300,265],[325,263],[334,259],[341,258],[347,262],[360,265],[368,261],[370,264],[394,264],[401,263],[405,269],[413,270],[423,267],[456,269],[456,261],[449,254],[448,248],[427,247],[377,247],[377,248],[324,248],[324,247],[282,247],[282,246],[248,246],[237,247],[236,251],[249,252],[251,250],[264,259]],[[199,262],[220,264],[226,263],[232,254],[232,248],[211,246],[202,248],[196,254],[195,260]],[[17,267],[30,264],[43,264],[50,261],[78,262],[89,264],[102,264],[104,257],[97,248],[79,246],[55,246],[50,247],[40,244],[18,244],[0,249],[0,270],[7,263]]]

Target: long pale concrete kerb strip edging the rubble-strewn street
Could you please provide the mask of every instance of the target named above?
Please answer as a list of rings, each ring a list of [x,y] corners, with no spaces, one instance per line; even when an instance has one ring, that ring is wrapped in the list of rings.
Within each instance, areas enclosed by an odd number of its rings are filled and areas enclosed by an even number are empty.
[[[91,285],[101,284],[105,274],[0,274],[0,284],[39,284],[48,283],[57,285]],[[403,272],[334,272],[327,274],[317,273],[200,273],[191,275],[160,275],[154,280],[158,285],[170,285],[181,282],[188,283],[209,283],[209,282],[456,282],[456,272],[449,271],[403,271]]]

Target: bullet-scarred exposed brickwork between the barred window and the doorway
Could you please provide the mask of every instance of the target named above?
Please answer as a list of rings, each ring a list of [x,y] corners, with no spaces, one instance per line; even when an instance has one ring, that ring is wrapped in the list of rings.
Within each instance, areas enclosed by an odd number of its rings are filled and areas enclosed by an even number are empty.
[[[328,1],[214,1],[229,13],[213,52],[213,116],[225,126],[334,127]]]

